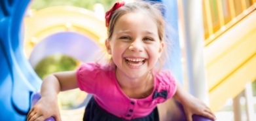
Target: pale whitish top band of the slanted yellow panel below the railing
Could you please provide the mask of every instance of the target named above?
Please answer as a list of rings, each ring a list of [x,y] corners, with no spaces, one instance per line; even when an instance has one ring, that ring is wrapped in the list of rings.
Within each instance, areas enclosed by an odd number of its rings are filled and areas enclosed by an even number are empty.
[[[216,38],[211,44],[204,48],[204,61],[206,67],[211,66],[212,63],[219,60],[223,52],[227,51],[230,46],[238,43],[248,33],[251,33],[256,27],[256,10],[248,14],[246,18],[238,22],[238,24],[231,27],[228,31]]]

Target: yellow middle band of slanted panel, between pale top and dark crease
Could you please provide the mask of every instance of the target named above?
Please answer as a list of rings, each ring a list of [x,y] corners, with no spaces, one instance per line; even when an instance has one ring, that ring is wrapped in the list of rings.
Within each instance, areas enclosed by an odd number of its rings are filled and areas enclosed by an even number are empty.
[[[247,58],[256,52],[256,28],[245,35],[239,43],[234,44],[229,50],[223,52],[221,58],[206,69],[206,78],[212,90],[217,84],[225,81],[230,73],[238,69]]]

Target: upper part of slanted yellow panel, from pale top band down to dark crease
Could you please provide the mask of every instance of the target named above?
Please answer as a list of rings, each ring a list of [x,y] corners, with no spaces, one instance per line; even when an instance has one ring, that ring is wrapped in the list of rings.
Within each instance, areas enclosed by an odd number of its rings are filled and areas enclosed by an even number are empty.
[[[256,52],[256,11],[204,48],[210,90]]]

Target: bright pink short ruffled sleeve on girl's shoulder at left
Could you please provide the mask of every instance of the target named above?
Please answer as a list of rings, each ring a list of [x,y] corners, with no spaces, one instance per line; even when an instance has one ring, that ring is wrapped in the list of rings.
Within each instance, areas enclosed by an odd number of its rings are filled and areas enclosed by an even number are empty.
[[[77,84],[80,90],[90,94],[96,93],[100,79],[100,65],[98,63],[84,63],[77,69]]]

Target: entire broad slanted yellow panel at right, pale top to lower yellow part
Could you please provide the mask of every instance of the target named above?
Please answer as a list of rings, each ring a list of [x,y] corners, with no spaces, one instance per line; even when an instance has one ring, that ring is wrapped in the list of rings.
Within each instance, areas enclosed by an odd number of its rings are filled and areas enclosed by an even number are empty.
[[[256,79],[256,11],[204,48],[210,107],[218,111]]]

